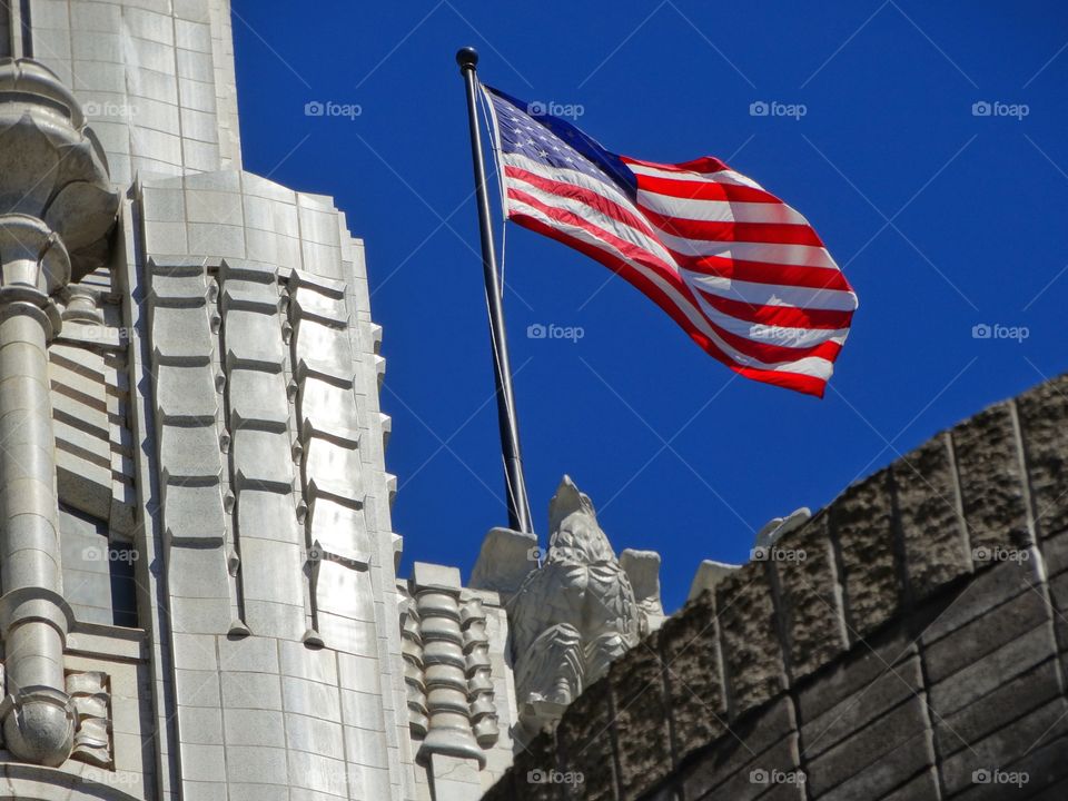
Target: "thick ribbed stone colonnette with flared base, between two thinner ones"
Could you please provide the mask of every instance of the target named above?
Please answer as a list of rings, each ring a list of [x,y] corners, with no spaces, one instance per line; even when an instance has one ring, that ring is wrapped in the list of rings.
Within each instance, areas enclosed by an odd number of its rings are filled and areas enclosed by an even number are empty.
[[[451,581],[453,571],[422,563],[415,565],[414,572],[429,713],[429,728],[419,758],[428,762],[432,754],[443,754],[473,759],[484,767],[486,758],[471,726],[459,577],[456,575],[455,582]]]

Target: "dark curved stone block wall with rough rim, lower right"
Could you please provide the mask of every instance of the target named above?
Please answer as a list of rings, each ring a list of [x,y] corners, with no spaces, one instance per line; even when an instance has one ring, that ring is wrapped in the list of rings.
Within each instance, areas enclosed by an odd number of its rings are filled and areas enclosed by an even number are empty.
[[[485,798],[1068,798],[1068,376],[778,545],[615,663]]]

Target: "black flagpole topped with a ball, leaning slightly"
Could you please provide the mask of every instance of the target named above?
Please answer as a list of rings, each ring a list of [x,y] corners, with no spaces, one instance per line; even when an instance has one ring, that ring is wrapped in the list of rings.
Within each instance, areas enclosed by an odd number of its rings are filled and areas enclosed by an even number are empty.
[[[486,169],[482,161],[482,134],[478,128],[478,99],[475,85],[475,65],[478,52],[463,48],[456,53],[456,63],[467,87],[467,118],[471,125],[471,159],[475,168],[475,194],[478,199],[478,229],[482,234],[482,269],[486,278],[486,304],[490,310],[490,337],[493,346],[493,377],[497,389],[497,421],[501,426],[501,448],[504,455],[504,482],[508,502],[508,525],[521,532],[534,533],[531,507],[523,478],[523,456],[520,449],[520,424],[515,415],[515,395],[512,393],[512,367],[508,364],[508,343],[504,333],[504,308],[497,281],[497,257],[493,249],[493,228],[490,217],[490,195],[486,190]]]

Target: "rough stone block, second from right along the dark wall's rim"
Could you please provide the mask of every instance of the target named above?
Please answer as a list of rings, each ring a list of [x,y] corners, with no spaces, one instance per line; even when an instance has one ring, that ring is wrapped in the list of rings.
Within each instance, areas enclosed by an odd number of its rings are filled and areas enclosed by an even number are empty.
[[[1028,541],[1019,444],[1008,403],[952,431],[971,547],[1024,547]]]

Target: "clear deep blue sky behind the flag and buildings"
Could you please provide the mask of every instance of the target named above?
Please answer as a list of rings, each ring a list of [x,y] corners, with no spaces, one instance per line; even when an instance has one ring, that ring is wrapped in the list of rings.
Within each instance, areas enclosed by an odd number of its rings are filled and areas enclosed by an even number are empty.
[[[1062,2],[234,0],[246,169],[337,199],[385,327],[393,510],[413,561],[466,575],[506,521],[455,50],[606,147],[719,156],[797,207],[860,309],[827,399],[734,378],[600,265],[517,227],[505,298],[535,525],[570,473],[616,550],[702,558],[1068,369]],[[312,101],[358,105],[308,117]],[[751,116],[756,101],[807,113]],[[990,116],[973,103],[1000,102]],[[1026,109],[1011,108],[1026,105]],[[1026,116],[1024,111],[1026,110]],[[999,113],[1000,112],[1000,113]],[[591,299],[592,298],[592,299]],[[581,326],[577,342],[527,326]],[[1028,337],[977,339],[980,324]]]

